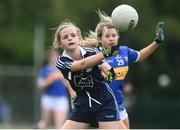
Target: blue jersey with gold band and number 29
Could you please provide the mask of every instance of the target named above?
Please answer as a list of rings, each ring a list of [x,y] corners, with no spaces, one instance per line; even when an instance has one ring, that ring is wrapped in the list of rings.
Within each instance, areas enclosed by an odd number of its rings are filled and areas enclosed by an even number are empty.
[[[128,72],[128,65],[131,62],[136,62],[139,59],[139,52],[133,50],[127,46],[119,46],[119,54],[116,56],[106,58],[108,64],[114,68],[117,78],[110,82],[110,87],[112,88],[119,108],[124,109],[124,94],[123,94],[123,85],[124,79]]]

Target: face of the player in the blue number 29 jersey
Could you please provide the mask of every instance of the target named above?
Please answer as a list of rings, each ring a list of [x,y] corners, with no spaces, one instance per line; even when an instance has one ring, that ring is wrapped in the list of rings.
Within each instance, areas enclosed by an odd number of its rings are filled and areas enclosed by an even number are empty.
[[[106,29],[100,39],[102,47],[111,48],[118,44],[119,35],[115,28]]]

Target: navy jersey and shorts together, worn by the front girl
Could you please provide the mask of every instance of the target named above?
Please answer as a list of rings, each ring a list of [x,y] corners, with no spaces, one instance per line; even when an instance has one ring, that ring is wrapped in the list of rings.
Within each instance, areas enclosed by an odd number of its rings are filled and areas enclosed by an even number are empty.
[[[98,53],[97,49],[92,48],[80,47],[80,50],[83,58]],[[102,62],[84,70],[71,72],[72,62],[73,59],[64,51],[56,63],[77,95],[69,119],[86,123],[119,120],[116,98],[99,69]]]

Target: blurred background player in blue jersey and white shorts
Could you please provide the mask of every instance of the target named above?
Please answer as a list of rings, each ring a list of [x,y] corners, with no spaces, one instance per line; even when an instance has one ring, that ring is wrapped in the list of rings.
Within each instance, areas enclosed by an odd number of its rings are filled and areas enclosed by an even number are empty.
[[[58,53],[47,51],[47,64],[39,72],[37,87],[42,91],[41,120],[37,128],[48,128],[54,117],[56,129],[60,129],[69,113],[69,98],[67,87],[69,83],[56,68]]]

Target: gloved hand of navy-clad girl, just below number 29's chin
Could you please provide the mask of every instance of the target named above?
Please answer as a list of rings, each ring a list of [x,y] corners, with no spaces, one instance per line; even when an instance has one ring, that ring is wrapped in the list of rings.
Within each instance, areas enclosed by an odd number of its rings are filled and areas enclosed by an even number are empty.
[[[101,51],[105,58],[115,56],[119,53],[119,45],[112,46],[111,48],[102,48]]]

